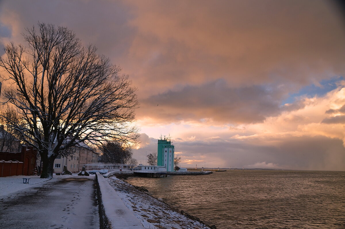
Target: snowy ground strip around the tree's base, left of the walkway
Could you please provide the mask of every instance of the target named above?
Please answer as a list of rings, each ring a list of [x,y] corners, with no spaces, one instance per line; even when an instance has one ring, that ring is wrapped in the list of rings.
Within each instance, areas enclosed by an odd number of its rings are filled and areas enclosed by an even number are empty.
[[[73,174],[76,176],[77,174]],[[53,175],[53,178],[40,178],[39,176],[6,176],[0,177],[0,196],[8,195],[19,190],[26,189],[28,187],[43,185],[43,182],[56,181],[71,177],[71,175]],[[23,184],[23,178],[30,178],[29,184]]]

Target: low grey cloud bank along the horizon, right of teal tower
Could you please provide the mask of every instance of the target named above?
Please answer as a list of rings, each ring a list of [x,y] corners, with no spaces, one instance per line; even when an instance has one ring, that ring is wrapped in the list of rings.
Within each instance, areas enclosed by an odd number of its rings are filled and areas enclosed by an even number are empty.
[[[324,136],[282,136],[267,139],[174,140],[175,152],[183,157],[182,166],[242,168],[272,164],[276,168],[300,170],[345,170],[342,140]],[[274,144],[272,144],[274,142]],[[157,139],[152,141],[157,148]],[[188,162],[188,164],[187,164]],[[272,168],[272,167],[271,167]]]

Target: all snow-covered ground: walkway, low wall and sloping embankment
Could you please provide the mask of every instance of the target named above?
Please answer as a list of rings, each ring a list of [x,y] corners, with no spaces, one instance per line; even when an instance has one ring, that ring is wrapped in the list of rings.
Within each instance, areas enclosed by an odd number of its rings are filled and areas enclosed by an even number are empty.
[[[115,176],[97,177],[98,183],[95,175],[0,177],[0,229],[210,228]]]

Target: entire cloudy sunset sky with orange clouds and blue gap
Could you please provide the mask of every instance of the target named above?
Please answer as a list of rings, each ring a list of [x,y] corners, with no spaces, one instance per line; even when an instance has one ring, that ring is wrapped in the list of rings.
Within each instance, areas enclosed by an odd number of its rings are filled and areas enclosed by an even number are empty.
[[[0,47],[45,22],[121,66],[138,89],[139,163],[162,135],[181,167],[344,171],[339,2],[0,0]]]

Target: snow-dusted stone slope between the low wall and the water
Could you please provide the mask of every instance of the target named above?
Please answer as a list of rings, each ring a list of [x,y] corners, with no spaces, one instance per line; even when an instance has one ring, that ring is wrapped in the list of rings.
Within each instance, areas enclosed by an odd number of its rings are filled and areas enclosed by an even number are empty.
[[[188,218],[164,202],[116,177],[106,178],[106,180],[146,229],[209,229],[203,223]]]

